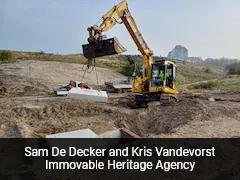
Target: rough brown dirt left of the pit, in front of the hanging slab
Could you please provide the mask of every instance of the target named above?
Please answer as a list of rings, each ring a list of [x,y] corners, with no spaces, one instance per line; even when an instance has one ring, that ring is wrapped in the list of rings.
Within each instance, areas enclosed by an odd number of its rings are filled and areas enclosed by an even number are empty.
[[[114,126],[111,109],[72,99],[13,101],[0,108],[1,137],[44,137],[84,128],[102,133]]]

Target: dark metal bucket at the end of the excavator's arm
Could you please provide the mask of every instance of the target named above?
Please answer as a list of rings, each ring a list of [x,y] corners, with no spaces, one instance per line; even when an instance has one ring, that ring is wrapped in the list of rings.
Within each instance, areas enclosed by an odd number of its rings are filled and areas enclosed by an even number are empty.
[[[82,45],[83,54],[87,59],[119,54],[126,49],[119,43],[116,37]]]

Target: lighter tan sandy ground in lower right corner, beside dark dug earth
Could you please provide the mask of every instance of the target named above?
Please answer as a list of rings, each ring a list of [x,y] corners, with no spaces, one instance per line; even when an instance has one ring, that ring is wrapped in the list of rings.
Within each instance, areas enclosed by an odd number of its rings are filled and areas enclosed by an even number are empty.
[[[239,97],[239,95],[237,95],[237,97]],[[196,114],[192,122],[175,128],[171,134],[161,134],[155,137],[240,137],[239,102],[200,101],[200,103],[203,103],[202,108],[204,111]]]

